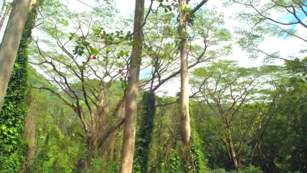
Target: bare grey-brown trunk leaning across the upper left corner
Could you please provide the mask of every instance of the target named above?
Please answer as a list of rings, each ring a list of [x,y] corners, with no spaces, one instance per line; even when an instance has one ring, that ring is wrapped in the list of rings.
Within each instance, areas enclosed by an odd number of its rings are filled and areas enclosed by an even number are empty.
[[[0,46],[0,112],[16,59],[22,30],[29,12],[30,0],[15,0]]]

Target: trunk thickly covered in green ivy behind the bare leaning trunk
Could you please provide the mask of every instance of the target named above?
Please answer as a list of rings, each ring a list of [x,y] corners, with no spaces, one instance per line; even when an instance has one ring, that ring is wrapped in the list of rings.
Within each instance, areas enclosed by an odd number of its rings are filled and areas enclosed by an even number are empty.
[[[37,1],[25,22],[3,109],[0,112],[0,169],[8,172],[17,172],[25,160],[23,133],[24,117],[27,114],[28,45],[37,9],[41,4],[41,0]]]

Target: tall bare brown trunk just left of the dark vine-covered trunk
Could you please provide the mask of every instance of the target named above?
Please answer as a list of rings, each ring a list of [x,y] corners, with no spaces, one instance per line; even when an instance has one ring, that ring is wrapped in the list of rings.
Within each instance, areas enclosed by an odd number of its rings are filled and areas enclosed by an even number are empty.
[[[132,172],[138,92],[138,78],[142,56],[142,23],[144,0],[135,1],[133,47],[129,65],[128,89],[125,102],[125,125],[121,158],[121,173]]]

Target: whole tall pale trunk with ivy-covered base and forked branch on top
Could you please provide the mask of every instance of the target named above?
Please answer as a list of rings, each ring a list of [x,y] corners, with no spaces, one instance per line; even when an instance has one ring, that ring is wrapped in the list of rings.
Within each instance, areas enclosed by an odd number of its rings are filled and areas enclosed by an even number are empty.
[[[186,172],[204,171],[203,156],[195,152],[200,144],[191,145],[191,122],[189,113],[189,81],[188,81],[188,53],[187,53],[187,18],[193,14],[208,0],[202,0],[194,9],[186,6],[187,0],[179,0],[179,37],[180,37],[180,134],[183,143],[184,167]],[[195,132],[195,138],[197,133]],[[200,161],[200,162],[199,162]]]

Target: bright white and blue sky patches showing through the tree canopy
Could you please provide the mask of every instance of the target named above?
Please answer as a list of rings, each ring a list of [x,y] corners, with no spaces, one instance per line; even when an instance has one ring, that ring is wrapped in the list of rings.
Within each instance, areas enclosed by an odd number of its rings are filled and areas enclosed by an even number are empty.
[[[90,10],[89,7],[83,5],[82,3],[76,1],[76,0],[62,0],[65,3],[69,3],[70,7],[72,10],[75,11],[84,11],[84,10]],[[93,5],[93,0],[82,0],[84,3]],[[102,0],[100,0],[102,1]],[[263,0],[262,2],[266,2],[267,0]],[[133,12],[134,12],[134,6],[135,6],[135,1],[134,0],[115,0],[117,4],[117,9],[119,10],[118,18],[123,17],[133,17]],[[198,4],[200,0],[191,0],[190,6],[193,6],[193,4]],[[218,12],[221,12],[224,14],[225,17],[225,25],[223,27],[229,29],[234,37],[238,37],[234,33],[234,27],[246,27],[243,22],[239,22],[238,20],[233,19],[233,17],[243,10],[243,7],[240,5],[233,5],[233,6],[223,6],[223,0],[209,0],[208,3],[205,5],[205,8],[208,9],[213,9],[217,10]],[[2,2],[0,2],[1,4]],[[145,0],[145,8],[149,8],[150,1]],[[154,2],[153,7],[158,7],[158,3]],[[306,8],[307,10],[307,8]],[[291,22],[295,21],[295,18],[292,15],[287,15],[285,13],[276,13],[272,14],[274,19],[284,21],[284,22]],[[301,13],[298,14],[298,17],[302,20],[305,20],[306,16]],[[283,26],[284,27],[284,26]],[[306,28],[303,28],[300,25],[291,25],[291,29],[296,29],[300,34],[306,35]],[[0,31],[0,37],[2,39],[4,33],[4,29]],[[260,44],[260,49],[264,50],[265,52],[275,52],[279,51],[280,55],[282,57],[287,57],[289,55],[297,55],[297,56],[302,56],[298,52],[306,47],[307,45],[305,42],[297,39],[297,38],[289,38],[289,37],[272,37],[272,36],[267,36],[265,38],[265,41]],[[222,57],[221,59],[227,59],[227,60],[236,60],[238,61],[238,64],[240,66],[244,67],[252,67],[252,66],[261,66],[263,65],[262,59],[257,59],[257,60],[251,60],[248,57],[248,54],[244,52],[239,46],[233,45],[233,51],[230,55]],[[283,62],[282,61],[276,61],[274,62],[275,64],[281,65]],[[141,72],[140,77],[146,77],[150,70],[144,70]],[[180,81],[179,78],[173,79],[173,81],[165,84],[164,86],[161,87],[160,91],[167,91],[169,95],[175,95],[177,92],[180,91],[179,87],[178,89],[174,89],[174,85],[180,86]]]

